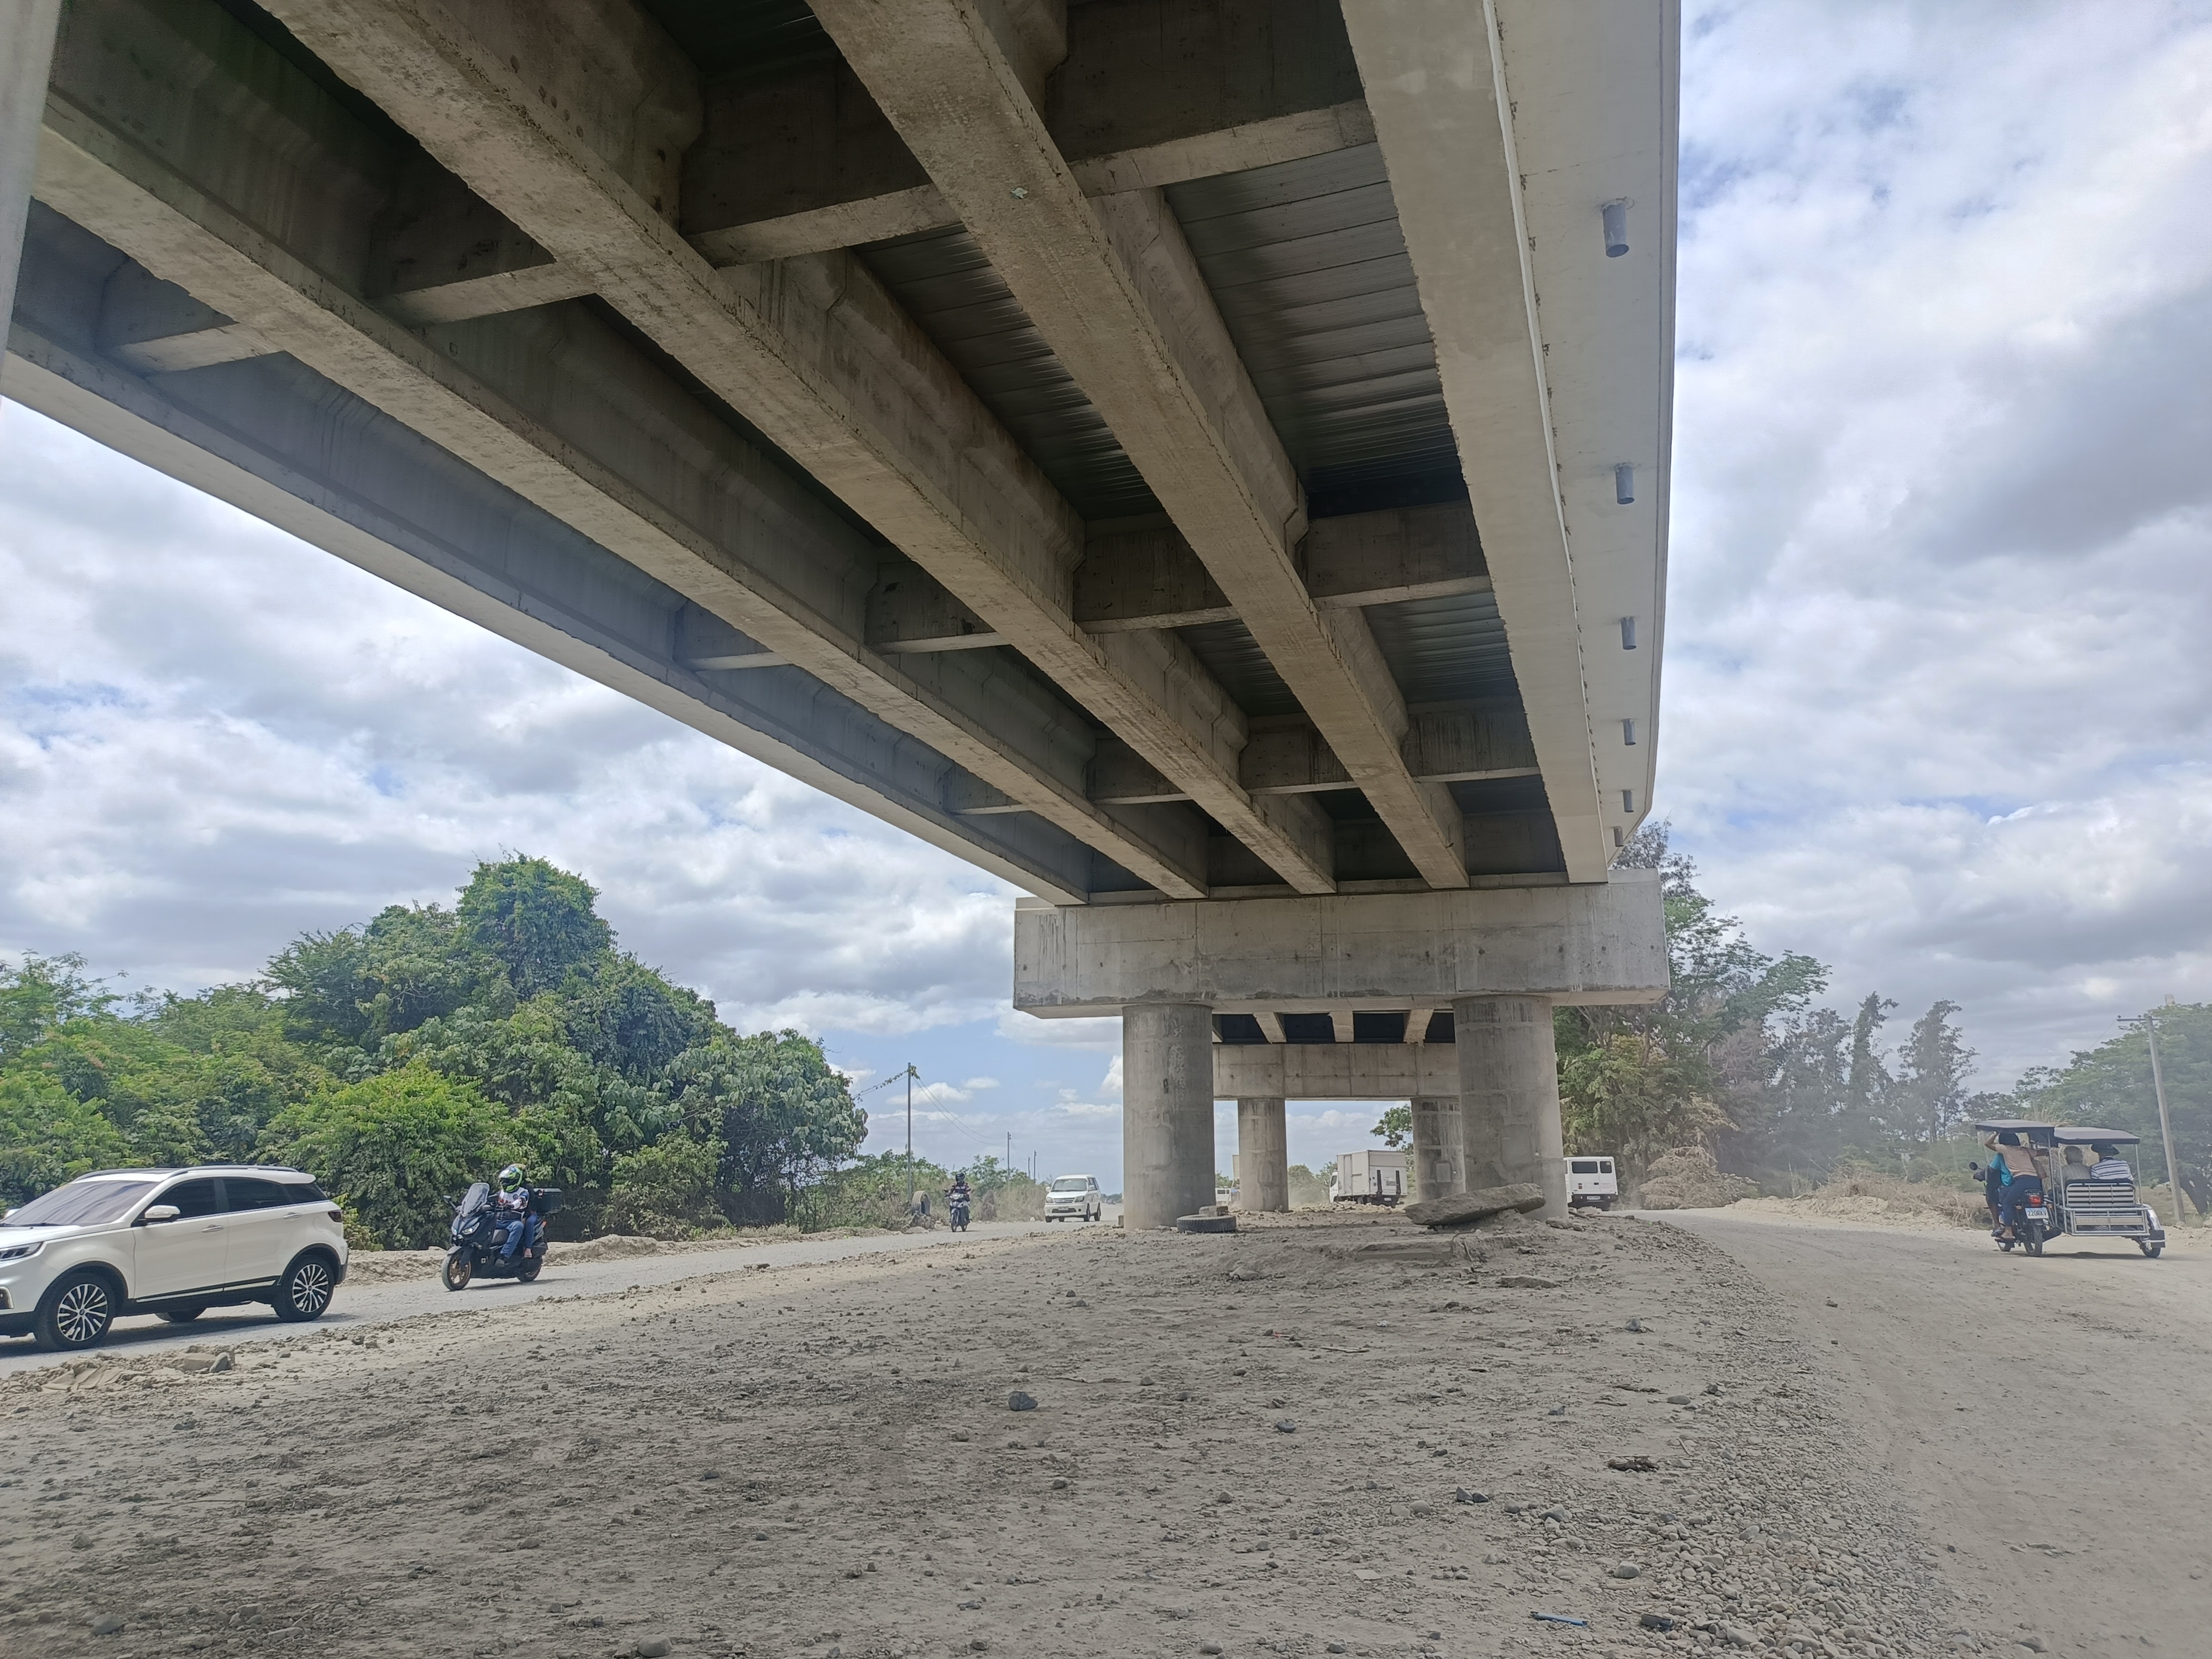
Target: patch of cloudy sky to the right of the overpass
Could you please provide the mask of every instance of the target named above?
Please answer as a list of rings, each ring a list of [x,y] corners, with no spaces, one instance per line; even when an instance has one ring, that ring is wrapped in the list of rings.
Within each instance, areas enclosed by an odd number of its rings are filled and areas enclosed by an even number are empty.
[[[1984,1082],[2212,995],[2212,29],[1692,11],[1659,805]]]

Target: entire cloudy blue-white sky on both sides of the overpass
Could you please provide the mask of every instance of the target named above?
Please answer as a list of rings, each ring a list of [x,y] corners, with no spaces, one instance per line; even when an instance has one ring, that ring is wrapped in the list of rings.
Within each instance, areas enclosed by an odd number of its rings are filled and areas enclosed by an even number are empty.
[[[1677,845],[1984,1086],[2212,998],[2212,4],[1688,4],[1681,104]],[[544,854],[737,1024],[911,1060],[918,1150],[1119,1181],[1002,883],[20,407],[0,469],[0,951],[197,989]]]

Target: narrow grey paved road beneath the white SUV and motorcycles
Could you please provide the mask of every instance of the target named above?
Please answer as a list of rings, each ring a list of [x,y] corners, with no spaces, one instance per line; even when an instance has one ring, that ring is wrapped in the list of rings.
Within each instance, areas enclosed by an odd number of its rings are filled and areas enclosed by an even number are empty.
[[[1108,1206],[1106,1225],[1119,1208]],[[978,1221],[964,1234],[878,1234],[865,1239],[794,1239],[792,1243],[734,1245],[730,1250],[688,1250],[666,1256],[624,1256],[617,1261],[562,1263],[551,1261],[538,1283],[513,1279],[480,1279],[462,1292],[449,1292],[436,1279],[411,1279],[396,1285],[341,1285],[338,1298],[319,1325],[285,1325],[265,1307],[210,1307],[190,1325],[166,1325],[159,1318],[126,1318],[108,1336],[111,1354],[148,1354],[188,1343],[268,1343],[272,1338],[312,1336],[332,1325],[445,1314],[453,1307],[511,1305],[544,1296],[608,1296],[630,1285],[668,1285],[679,1279],[730,1272],[754,1263],[779,1267],[874,1256],[889,1250],[942,1250],[973,1239],[1011,1239],[1029,1232],[1060,1232],[1042,1221]],[[0,1376],[38,1365],[60,1365],[66,1354],[40,1354],[29,1336],[0,1338]]]

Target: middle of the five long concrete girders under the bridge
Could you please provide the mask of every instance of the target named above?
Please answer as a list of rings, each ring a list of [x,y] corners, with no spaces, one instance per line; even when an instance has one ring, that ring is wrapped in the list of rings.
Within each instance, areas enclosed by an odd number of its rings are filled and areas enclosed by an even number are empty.
[[[602,44],[657,33],[630,0],[573,4],[622,13],[597,31]],[[1188,646],[1159,633],[1099,641],[1075,626],[1073,509],[854,257],[717,274],[611,159],[628,153],[619,131],[595,133],[588,106],[533,97],[546,73],[573,71],[542,62],[557,42],[533,33],[535,9],[518,0],[460,11],[272,0],[270,11],[1292,887],[1334,889],[1327,818],[1243,792],[1243,717]],[[681,60],[666,73],[697,80]],[[1139,874],[1203,891],[1161,860]]]

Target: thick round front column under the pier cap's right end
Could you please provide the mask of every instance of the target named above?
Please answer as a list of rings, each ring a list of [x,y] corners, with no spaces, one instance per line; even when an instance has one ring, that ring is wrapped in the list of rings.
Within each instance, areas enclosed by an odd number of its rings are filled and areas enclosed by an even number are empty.
[[[1469,1190],[1531,1181],[1544,1214],[1566,1214],[1566,1139],[1559,1130],[1559,1055],[1548,998],[1458,998],[1460,1117]]]

